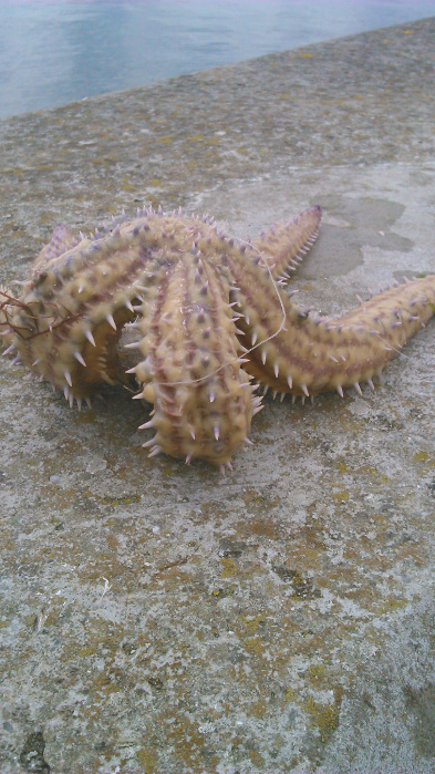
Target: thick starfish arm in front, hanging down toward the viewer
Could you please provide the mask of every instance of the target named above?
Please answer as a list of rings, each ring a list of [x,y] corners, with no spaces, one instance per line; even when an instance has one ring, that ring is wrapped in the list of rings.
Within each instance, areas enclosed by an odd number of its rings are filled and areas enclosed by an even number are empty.
[[[151,456],[164,451],[222,467],[244,446],[261,400],[240,368],[226,276],[198,254],[178,256],[138,323],[136,398],[154,403],[144,426],[155,436],[144,445]]]

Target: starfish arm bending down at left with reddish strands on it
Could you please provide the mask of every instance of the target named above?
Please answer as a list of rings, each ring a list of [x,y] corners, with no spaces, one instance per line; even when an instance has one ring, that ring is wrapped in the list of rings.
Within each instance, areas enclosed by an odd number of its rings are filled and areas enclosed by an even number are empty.
[[[59,256],[40,254],[8,306],[20,361],[70,402],[101,384],[125,382],[116,345],[124,324],[136,317],[137,283],[151,285],[164,270],[152,247],[146,231],[134,241],[117,233],[97,241],[83,238]]]

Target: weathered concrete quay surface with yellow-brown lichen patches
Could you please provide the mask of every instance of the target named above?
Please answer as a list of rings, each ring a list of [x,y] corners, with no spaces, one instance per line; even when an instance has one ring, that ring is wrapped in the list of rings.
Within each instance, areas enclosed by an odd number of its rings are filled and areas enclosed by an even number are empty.
[[[0,122],[0,281],[152,203],[324,210],[324,312],[435,270],[435,19]],[[435,327],[363,396],[265,400],[225,477],[123,389],[0,362],[2,774],[435,772]]]

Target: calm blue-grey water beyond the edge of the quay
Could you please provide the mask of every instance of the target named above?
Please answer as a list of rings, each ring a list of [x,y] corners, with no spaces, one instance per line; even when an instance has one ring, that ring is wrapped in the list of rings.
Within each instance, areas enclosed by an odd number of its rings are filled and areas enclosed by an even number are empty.
[[[435,14],[435,0],[0,0],[0,117]]]

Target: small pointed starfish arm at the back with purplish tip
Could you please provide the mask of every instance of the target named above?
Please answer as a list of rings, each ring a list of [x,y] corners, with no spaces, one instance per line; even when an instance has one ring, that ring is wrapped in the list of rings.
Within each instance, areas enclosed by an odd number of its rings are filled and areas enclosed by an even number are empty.
[[[296,270],[318,238],[321,217],[318,205],[309,207],[252,240],[253,249],[267,260],[273,279],[287,283],[289,272]]]

